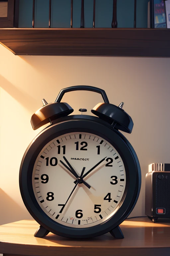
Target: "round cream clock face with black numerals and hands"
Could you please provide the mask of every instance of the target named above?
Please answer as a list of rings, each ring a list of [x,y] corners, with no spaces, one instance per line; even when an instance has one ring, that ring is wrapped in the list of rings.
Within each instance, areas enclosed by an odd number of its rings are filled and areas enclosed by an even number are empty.
[[[117,150],[102,137],[67,133],[43,147],[34,165],[32,185],[37,202],[52,220],[86,228],[116,213],[126,172]]]

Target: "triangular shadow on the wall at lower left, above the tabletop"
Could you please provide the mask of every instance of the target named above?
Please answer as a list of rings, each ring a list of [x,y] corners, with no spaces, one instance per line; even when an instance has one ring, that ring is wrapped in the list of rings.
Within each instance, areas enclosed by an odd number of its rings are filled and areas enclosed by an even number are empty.
[[[25,218],[31,219],[27,209],[21,208],[11,197],[9,197],[2,189],[0,189],[0,225],[19,221]]]

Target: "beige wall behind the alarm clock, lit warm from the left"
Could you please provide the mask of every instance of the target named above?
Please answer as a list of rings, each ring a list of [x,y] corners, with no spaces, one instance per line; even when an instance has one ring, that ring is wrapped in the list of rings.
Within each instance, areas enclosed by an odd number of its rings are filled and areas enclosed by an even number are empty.
[[[132,117],[126,134],[139,158],[142,187],[131,216],[144,215],[145,174],[152,162],[170,162],[170,58],[15,56],[0,45],[0,224],[29,219],[19,191],[19,168],[31,140],[30,119],[42,106],[54,102],[59,91],[73,85],[104,89],[110,103],[125,102]],[[78,113],[88,113],[101,97],[72,92],[63,98]],[[3,205],[3,207],[2,207]]]

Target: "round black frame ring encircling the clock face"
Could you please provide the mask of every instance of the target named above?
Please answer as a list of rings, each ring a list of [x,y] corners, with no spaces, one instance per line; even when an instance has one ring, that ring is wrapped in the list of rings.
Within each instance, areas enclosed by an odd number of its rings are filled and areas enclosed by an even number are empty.
[[[110,219],[93,227],[72,228],[55,222],[43,212],[33,192],[32,173],[37,156],[49,141],[69,132],[89,132],[106,139],[124,162],[127,182],[118,210]],[[19,182],[26,208],[45,230],[69,238],[90,238],[111,232],[128,217],[138,199],[141,172],[136,153],[122,133],[98,117],[72,115],[55,120],[31,142],[22,159]]]

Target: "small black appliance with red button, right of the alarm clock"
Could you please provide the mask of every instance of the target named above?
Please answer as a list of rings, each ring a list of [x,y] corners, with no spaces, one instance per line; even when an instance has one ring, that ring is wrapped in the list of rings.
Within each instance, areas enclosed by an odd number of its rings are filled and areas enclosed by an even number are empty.
[[[170,218],[170,164],[150,164],[145,183],[145,214],[156,222]]]

